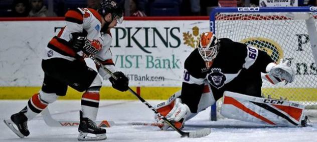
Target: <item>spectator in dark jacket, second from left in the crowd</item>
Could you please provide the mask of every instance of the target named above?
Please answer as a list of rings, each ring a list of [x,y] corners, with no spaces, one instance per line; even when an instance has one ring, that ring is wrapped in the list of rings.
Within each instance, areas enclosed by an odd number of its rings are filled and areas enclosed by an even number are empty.
[[[53,11],[50,12],[44,5],[43,0],[31,0],[31,11],[29,12],[30,17],[49,17],[57,16]]]

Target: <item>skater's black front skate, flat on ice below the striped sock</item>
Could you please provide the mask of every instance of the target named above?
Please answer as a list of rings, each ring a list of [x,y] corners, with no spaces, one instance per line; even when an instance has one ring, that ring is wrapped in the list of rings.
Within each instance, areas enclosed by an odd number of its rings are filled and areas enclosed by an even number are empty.
[[[78,131],[80,132],[78,135],[78,140],[80,141],[91,141],[91,140],[104,140],[107,138],[106,129],[100,128],[96,125],[96,123],[82,116],[82,111],[80,113],[80,123],[78,127]]]

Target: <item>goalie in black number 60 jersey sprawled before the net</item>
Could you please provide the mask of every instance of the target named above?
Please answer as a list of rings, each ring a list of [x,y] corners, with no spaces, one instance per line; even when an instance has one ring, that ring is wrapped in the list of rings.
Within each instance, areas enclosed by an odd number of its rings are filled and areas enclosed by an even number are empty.
[[[294,70],[289,62],[276,64],[262,50],[251,45],[202,33],[199,46],[185,60],[182,90],[156,109],[181,128],[186,120],[223,98],[225,117],[276,126],[306,126],[304,105],[263,98],[261,72],[275,84],[292,82]],[[159,122],[163,120],[155,115]],[[169,125],[161,127],[168,128]]]

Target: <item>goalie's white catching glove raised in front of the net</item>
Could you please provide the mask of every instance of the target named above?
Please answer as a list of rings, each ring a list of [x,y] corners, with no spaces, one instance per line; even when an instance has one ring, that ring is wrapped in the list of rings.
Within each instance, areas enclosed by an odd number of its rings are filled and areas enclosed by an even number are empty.
[[[285,80],[285,84],[287,84],[288,82],[291,83],[294,80],[295,70],[291,67],[289,60],[284,59],[277,65],[273,66],[269,72],[262,77],[273,84],[283,80]]]

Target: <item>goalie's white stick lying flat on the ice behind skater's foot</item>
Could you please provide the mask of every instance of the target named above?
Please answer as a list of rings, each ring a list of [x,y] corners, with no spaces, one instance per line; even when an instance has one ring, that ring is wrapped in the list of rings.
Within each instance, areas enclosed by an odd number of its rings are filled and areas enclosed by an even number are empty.
[[[54,127],[73,127],[79,125],[79,120],[56,120],[52,117],[48,108],[45,108],[42,112],[43,119],[48,126]],[[164,123],[146,123],[146,122],[127,122],[116,123],[111,120],[96,120],[96,124],[99,127],[112,127],[115,125],[143,125],[143,126],[163,126]]]

